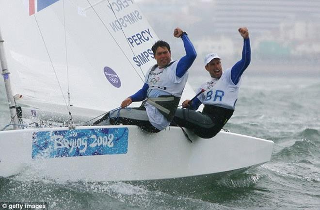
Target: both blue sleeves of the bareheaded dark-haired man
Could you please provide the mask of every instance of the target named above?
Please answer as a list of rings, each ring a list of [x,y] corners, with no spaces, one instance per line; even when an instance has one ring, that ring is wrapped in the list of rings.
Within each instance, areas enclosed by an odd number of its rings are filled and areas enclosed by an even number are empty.
[[[186,50],[186,55],[183,56],[176,67],[176,76],[181,78],[190,68],[193,61],[195,60],[197,53],[192,45],[192,42],[190,41],[187,34],[183,33],[181,36],[184,44],[184,48]],[[132,101],[142,101],[147,97],[147,91],[149,89],[149,85],[147,83],[144,83],[143,87],[130,96]]]

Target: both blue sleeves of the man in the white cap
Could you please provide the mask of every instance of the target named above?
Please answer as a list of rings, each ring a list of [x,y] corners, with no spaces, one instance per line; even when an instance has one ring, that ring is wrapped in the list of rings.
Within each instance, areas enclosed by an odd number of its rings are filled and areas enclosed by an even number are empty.
[[[249,66],[251,61],[250,39],[243,39],[242,58],[231,68],[231,80],[237,85],[244,70]],[[192,100],[190,109],[197,110],[202,102],[196,97]]]

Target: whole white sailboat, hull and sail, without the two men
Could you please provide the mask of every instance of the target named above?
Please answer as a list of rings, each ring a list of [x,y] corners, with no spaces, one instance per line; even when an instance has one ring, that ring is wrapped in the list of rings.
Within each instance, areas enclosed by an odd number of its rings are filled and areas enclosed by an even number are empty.
[[[142,87],[158,39],[133,0],[0,1],[14,128],[0,131],[0,177],[31,168],[69,181],[174,180],[270,161],[272,141],[224,130],[211,139],[186,130],[191,143],[178,127],[150,134],[83,123]],[[187,84],[181,101],[194,95]]]

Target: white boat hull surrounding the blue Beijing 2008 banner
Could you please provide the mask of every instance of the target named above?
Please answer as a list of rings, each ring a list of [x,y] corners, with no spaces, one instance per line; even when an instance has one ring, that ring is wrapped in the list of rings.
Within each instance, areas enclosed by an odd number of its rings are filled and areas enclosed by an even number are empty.
[[[123,154],[76,157],[42,154],[39,157],[39,153],[33,157],[35,133],[68,128],[3,131],[0,133],[0,177],[16,175],[29,168],[44,177],[70,181],[185,178],[263,164],[270,161],[273,148],[272,141],[224,131],[212,139],[201,139],[188,132],[191,143],[178,127],[156,134],[145,133],[137,126],[83,126],[75,131],[112,128],[128,128],[128,147]]]

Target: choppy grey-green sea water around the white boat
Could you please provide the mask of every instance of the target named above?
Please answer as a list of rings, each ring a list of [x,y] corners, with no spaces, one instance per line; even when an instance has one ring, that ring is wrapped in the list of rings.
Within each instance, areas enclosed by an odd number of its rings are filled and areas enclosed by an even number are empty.
[[[232,132],[274,141],[272,160],[198,189],[124,182],[60,182],[28,169],[0,178],[1,201],[46,201],[52,210],[320,210],[320,78],[247,76]],[[0,128],[9,112],[0,83]]]

